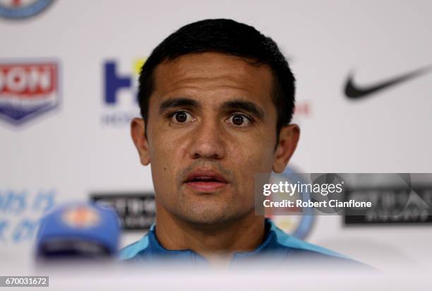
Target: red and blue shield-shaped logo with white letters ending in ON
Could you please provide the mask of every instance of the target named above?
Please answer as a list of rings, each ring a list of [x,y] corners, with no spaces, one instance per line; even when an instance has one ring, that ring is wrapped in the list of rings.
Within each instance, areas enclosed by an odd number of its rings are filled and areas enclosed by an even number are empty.
[[[59,78],[56,61],[0,64],[0,118],[19,125],[56,108]]]

